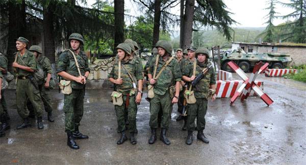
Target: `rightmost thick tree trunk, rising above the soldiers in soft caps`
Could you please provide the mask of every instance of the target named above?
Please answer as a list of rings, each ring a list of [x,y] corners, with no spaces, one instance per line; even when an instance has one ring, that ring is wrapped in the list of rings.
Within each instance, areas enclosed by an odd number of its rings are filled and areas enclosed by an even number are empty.
[[[183,24],[183,41],[182,48],[186,49],[191,46],[192,41],[192,25],[193,25],[193,15],[194,15],[194,1],[195,0],[186,0],[185,3],[185,15],[184,15],[184,24]]]

